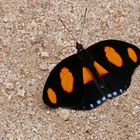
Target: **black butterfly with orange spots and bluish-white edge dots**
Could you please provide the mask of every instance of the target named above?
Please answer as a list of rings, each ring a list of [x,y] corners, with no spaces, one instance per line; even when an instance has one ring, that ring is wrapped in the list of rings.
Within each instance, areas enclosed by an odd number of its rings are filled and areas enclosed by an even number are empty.
[[[77,53],[51,71],[43,101],[52,108],[89,110],[124,93],[140,64],[140,49],[120,40],[104,40]]]

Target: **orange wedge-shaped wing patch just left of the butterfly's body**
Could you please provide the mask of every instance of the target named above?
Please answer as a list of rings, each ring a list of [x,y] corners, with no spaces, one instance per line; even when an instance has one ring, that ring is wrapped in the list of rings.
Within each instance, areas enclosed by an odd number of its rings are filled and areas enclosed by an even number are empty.
[[[94,77],[93,77],[93,74],[92,74],[92,72],[90,71],[89,68],[83,67],[82,71],[83,71],[83,82],[84,82],[84,84],[87,84],[88,82],[93,81]]]

